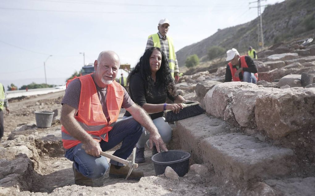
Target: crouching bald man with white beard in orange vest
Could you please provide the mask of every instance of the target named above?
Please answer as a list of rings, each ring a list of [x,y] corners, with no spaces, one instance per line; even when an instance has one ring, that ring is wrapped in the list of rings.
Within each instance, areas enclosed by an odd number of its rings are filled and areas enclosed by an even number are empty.
[[[100,151],[108,151],[122,143],[113,155],[127,159],[143,127],[150,132],[151,148],[154,142],[158,152],[159,147],[168,151],[148,114],[115,81],[119,65],[120,60],[115,52],[103,51],[94,62],[95,73],[67,82],[61,102],[62,142],[65,157],[73,162],[77,185],[92,186],[92,178],[105,174],[109,166],[106,157],[100,156]],[[122,107],[133,118],[117,121]],[[110,163],[109,177],[127,176],[128,166],[113,160]],[[128,179],[139,180],[143,176],[143,172],[132,171]]]

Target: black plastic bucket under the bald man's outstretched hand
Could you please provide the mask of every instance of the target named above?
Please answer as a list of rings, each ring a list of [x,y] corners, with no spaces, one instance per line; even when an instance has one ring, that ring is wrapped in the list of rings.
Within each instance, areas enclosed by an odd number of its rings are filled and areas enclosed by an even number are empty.
[[[167,166],[183,177],[189,170],[189,158],[191,154],[188,151],[170,150],[168,152],[157,153],[152,156],[155,175],[165,172]]]

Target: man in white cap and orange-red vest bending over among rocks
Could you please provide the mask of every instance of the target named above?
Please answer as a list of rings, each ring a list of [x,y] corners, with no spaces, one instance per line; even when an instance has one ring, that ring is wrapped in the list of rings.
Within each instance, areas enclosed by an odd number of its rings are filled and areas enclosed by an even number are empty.
[[[230,61],[226,66],[224,82],[249,82],[256,84],[258,80],[258,70],[252,58],[249,56],[239,56],[235,48],[226,51],[226,61]]]

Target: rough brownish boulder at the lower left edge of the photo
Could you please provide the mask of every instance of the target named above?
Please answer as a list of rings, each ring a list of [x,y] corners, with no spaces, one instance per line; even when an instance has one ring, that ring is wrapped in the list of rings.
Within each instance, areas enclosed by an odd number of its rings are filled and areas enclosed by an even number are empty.
[[[34,170],[29,158],[13,161],[0,160],[0,186],[31,191],[34,185]]]

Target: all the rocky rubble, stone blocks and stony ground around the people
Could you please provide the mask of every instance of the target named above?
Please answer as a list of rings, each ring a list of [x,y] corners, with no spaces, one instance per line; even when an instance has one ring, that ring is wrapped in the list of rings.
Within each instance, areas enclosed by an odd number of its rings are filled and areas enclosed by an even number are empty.
[[[5,117],[10,133],[0,144],[0,195],[310,195],[315,83],[302,87],[301,74],[315,74],[314,53],[314,45],[295,43],[259,52],[256,84],[222,83],[226,65],[180,77],[178,92],[206,109],[174,125],[173,146],[192,155],[184,177],[171,168],[165,177],[152,176],[148,159],[139,166],[148,177],[139,182],[103,177],[94,180],[99,187],[74,185],[71,162],[63,157],[60,116],[49,129],[33,122],[36,110],[57,109],[59,114],[62,96],[36,97],[32,105],[30,98],[12,100],[21,102],[13,115],[23,122]]]

